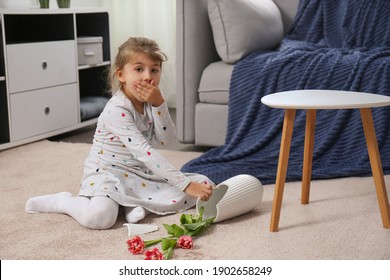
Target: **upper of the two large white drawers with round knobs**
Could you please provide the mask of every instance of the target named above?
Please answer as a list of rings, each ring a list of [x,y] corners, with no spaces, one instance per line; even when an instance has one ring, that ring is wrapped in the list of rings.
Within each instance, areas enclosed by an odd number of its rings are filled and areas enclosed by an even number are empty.
[[[7,45],[10,93],[77,80],[75,41]]]

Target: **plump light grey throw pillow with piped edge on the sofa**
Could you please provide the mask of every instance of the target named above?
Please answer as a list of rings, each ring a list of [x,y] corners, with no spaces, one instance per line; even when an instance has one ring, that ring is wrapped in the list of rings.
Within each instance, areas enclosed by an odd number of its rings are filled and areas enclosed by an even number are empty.
[[[215,47],[226,63],[273,49],[283,38],[282,16],[272,0],[210,0],[208,13]]]

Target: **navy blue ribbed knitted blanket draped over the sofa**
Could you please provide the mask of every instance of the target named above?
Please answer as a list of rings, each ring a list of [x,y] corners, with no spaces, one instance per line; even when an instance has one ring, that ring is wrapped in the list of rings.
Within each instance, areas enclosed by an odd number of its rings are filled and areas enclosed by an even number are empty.
[[[390,95],[390,0],[301,0],[295,21],[276,51],[258,51],[234,66],[225,144],[183,166],[215,183],[251,174],[275,182],[283,110],[264,95],[331,89]],[[305,130],[298,110],[287,181],[301,180]],[[374,108],[382,165],[390,174],[390,107]],[[319,110],[313,179],[371,175],[359,110]]]

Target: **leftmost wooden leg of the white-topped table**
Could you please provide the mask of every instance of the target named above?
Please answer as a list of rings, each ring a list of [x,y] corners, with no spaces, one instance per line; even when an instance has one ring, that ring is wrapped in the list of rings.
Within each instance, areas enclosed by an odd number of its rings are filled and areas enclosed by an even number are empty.
[[[282,140],[280,143],[278,171],[276,175],[274,201],[272,205],[270,231],[276,232],[279,228],[280,210],[282,208],[284,184],[286,182],[288,158],[290,155],[290,145],[295,120],[294,109],[284,112]]]

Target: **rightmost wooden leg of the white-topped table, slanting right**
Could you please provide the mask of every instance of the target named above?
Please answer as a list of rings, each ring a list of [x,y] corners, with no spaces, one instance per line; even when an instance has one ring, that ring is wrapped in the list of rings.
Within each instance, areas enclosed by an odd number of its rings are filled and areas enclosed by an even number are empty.
[[[368,155],[370,157],[372,175],[374,177],[382,223],[385,228],[390,228],[390,206],[387,197],[385,179],[383,177],[382,162],[376,140],[371,109],[360,109],[360,115],[362,116],[364,134],[366,136]]]

